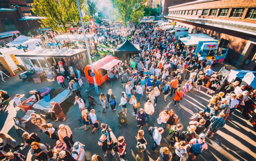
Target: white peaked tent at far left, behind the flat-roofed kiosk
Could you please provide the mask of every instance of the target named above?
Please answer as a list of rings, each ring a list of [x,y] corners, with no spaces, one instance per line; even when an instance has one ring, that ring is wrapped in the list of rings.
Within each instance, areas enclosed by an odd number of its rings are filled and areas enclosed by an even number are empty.
[[[20,45],[27,46],[28,45],[28,51],[33,51],[41,47],[37,47],[36,44],[39,44],[39,42],[42,42],[41,39],[35,39],[35,38],[30,38],[27,36],[20,35],[17,39],[14,41],[6,44],[7,46],[17,46],[19,47]]]

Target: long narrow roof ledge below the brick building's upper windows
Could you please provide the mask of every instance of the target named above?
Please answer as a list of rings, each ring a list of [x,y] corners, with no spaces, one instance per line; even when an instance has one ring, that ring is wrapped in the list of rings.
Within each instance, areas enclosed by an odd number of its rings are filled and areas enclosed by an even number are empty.
[[[187,22],[204,24],[204,25],[208,25],[208,26],[214,26],[214,27],[218,27],[218,28],[243,32],[243,33],[247,33],[247,34],[251,34],[251,35],[256,35],[256,27],[254,27],[255,24],[252,24],[252,26],[247,26],[247,25],[242,25],[242,24],[231,23],[229,21],[218,22],[216,19],[215,20],[209,20],[209,19],[206,20],[206,19],[188,18],[188,17],[182,18],[182,17],[178,17],[178,16],[177,17],[164,16],[164,17],[173,18],[173,19],[177,19],[177,20],[183,20],[183,21],[187,21]]]

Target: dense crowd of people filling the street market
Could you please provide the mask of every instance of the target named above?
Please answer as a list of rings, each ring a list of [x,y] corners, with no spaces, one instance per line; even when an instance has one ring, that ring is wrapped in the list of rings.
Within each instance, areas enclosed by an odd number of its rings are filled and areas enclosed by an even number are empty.
[[[77,32],[81,32],[79,27]],[[140,45],[140,62],[134,63],[134,56],[130,59],[120,62],[113,69],[108,71],[110,85],[112,90],[115,81],[119,80],[123,91],[120,92],[121,99],[118,106],[122,107],[125,115],[127,108],[133,107],[132,115],[137,121],[136,127],[138,133],[136,136],[136,160],[144,160],[146,153],[147,141],[144,138],[144,130],[148,130],[148,134],[153,139],[154,145],[151,147],[151,152],[158,153],[158,146],[165,142],[162,139],[164,133],[168,140],[168,147],[159,149],[159,157],[156,160],[171,160],[176,157],[177,160],[186,160],[189,155],[191,160],[195,160],[196,156],[200,155],[203,150],[207,150],[206,137],[213,138],[214,134],[225,126],[228,117],[238,108],[243,106],[249,96],[255,97],[255,90],[246,90],[246,86],[239,86],[240,82],[236,81],[225,87],[226,93],[215,93],[221,84],[221,76],[218,72],[211,69],[213,61],[204,62],[198,59],[195,48],[193,46],[185,47],[176,40],[172,34],[167,34],[159,27],[151,23],[135,24],[131,30],[125,32],[126,29],[118,22],[105,22],[96,25],[95,42],[116,46],[123,42],[124,38],[131,36],[131,42]],[[90,27],[88,31],[91,32]],[[51,36],[49,34],[48,36]],[[99,38],[102,36],[102,38]],[[49,37],[48,37],[49,39]],[[101,137],[98,140],[98,145],[102,148],[104,156],[95,154],[91,160],[103,160],[108,156],[116,157],[116,153],[121,161],[124,160],[126,154],[126,143],[123,136],[115,137],[112,129],[106,123],[101,123],[95,115],[95,109],[88,110],[85,106],[76,77],[67,79],[64,73],[61,73],[63,63],[59,60],[58,65],[55,64],[57,71],[57,80],[63,88],[72,90],[76,95],[74,104],[78,104],[81,112],[82,123],[84,130],[87,131],[91,127],[91,134],[95,134],[96,130],[101,129]],[[69,80],[69,85],[66,86],[64,80]],[[198,111],[190,117],[189,126],[184,126],[179,122],[178,115],[175,113],[175,107],[179,106],[180,101],[187,95],[193,96],[201,91],[201,87],[207,88],[206,94],[211,97],[204,111]],[[194,88],[194,89],[193,89]],[[193,90],[192,90],[193,89]],[[112,111],[116,110],[116,97],[109,89],[107,93],[101,93],[99,100],[102,106],[102,115],[106,114],[106,109],[110,106]],[[250,93],[251,92],[251,93]],[[37,100],[42,99],[37,91],[30,91],[34,94]],[[0,91],[1,99],[4,98],[7,92]],[[143,95],[146,95],[146,100]],[[163,97],[167,102],[167,97],[173,100],[170,109],[159,110],[157,102],[159,97]],[[144,102],[145,101],[145,102]],[[20,94],[15,97],[15,104],[26,113],[21,102]],[[66,116],[62,111],[60,104],[50,102],[52,106],[50,112],[55,113],[56,120],[63,119]],[[169,107],[168,107],[169,108]],[[151,120],[152,115],[157,115],[157,127],[154,127],[154,120]],[[23,145],[15,141],[10,135],[0,133],[0,138],[3,143],[0,149],[14,149],[15,152],[5,154],[9,160],[25,160],[25,156],[18,153],[18,149],[30,146],[30,152],[37,160],[86,160],[86,148],[80,142],[74,142],[72,130],[69,126],[60,124],[54,127],[51,123],[46,123],[46,120],[40,115],[31,114],[31,122],[37,126],[40,131],[47,134],[49,138],[56,143],[55,149],[49,149],[46,141],[40,139],[40,136],[35,132],[23,133],[25,143]],[[148,127],[148,128],[144,128]],[[151,125],[151,126],[149,126]],[[129,128],[129,127],[128,127]],[[144,129],[144,130],[143,130]],[[167,131],[167,132],[165,132]],[[90,136],[88,136],[90,137]],[[48,141],[48,140],[47,140]],[[172,149],[174,152],[172,152]]]

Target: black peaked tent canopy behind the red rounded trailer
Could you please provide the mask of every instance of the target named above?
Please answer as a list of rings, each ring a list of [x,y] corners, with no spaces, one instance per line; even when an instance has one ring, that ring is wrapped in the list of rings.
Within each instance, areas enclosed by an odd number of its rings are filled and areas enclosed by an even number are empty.
[[[128,54],[138,54],[140,53],[140,46],[138,44],[133,44],[128,40],[124,43],[118,45],[117,49],[114,51],[115,57],[119,60],[125,60],[128,58]]]

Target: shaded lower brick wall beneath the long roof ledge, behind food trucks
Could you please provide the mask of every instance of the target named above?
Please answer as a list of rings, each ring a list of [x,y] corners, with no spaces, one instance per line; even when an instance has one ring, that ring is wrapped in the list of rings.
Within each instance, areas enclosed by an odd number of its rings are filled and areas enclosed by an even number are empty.
[[[177,21],[176,19],[170,19],[169,21]],[[242,32],[237,32],[237,31],[231,31],[227,29],[222,29],[222,28],[217,28],[217,27],[212,27],[212,26],[207,26],[203,24],[197,24],[193,22],[187,22],[187,21],[181,21],[178,20],[178,23],[183,23],[183,24],[188,24],[192,25],[194,30],[199,30],[202,33],[208,33],[209,36],[215,35],[217,38],[220,39],[226,39],[229,40],[228,43],[228,57],[232,57],[233,62],[237,61],[248,41],[249,38],[254,38],[256,39],[256,36],[242,33]],[[184,27],[191,27],[191,26],[185,26]]]

